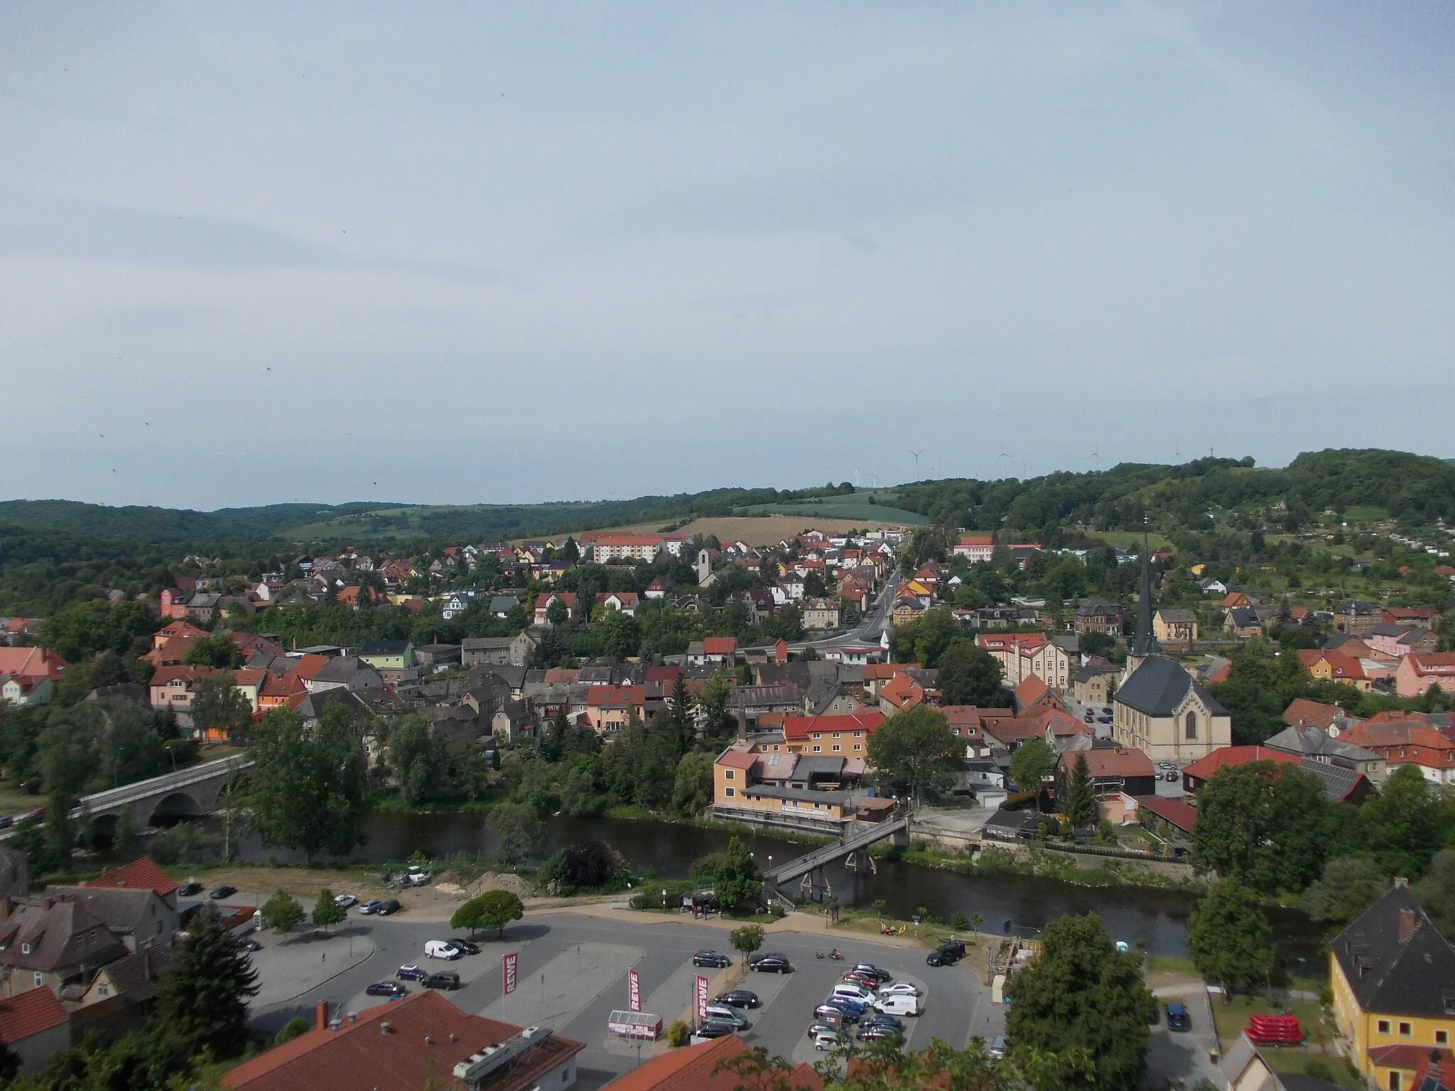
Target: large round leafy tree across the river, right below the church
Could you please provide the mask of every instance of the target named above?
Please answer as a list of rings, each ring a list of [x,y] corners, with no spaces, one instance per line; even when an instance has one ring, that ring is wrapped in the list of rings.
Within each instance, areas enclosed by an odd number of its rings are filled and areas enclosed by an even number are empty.
[[[1324,868],[1337,813],[1296,765],[1222,768],[1197,793],[1193,863],[1266,895],[1302,890]]]

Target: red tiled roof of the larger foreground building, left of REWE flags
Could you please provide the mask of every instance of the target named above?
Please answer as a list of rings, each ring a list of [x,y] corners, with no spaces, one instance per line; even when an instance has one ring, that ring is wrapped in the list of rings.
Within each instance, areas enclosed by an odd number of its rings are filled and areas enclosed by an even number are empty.
[[[390,1033],[380,1030],[388,1023]],[[223,1076],[234,1091],[419,1091],[431,1078],[450,1085],[454,1066],[485,1046],[521,1031],[508,1023],[470,1015],[438,992],[423,989],[393,1004],[378,1004],[338,1030],[310,1030],[292,1042],[244,1060]],[[425,1037],[429,1044],[425,1044]],[[451,1036],[454,1040],[451,1042]],[[490,1091],[524,1091],[585,1046],[551,1036],[489,1081]]]

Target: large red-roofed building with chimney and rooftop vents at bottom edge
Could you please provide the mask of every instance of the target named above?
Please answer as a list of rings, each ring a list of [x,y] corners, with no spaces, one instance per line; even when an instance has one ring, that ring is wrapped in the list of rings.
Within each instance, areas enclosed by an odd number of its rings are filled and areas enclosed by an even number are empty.
[[[471,1015],[434,989],[329,1020],[223,1075],[228,1091],[528,1091],[576,1085],[581,1042]],[[451,1076],[454,1078],[451,1081]]]

